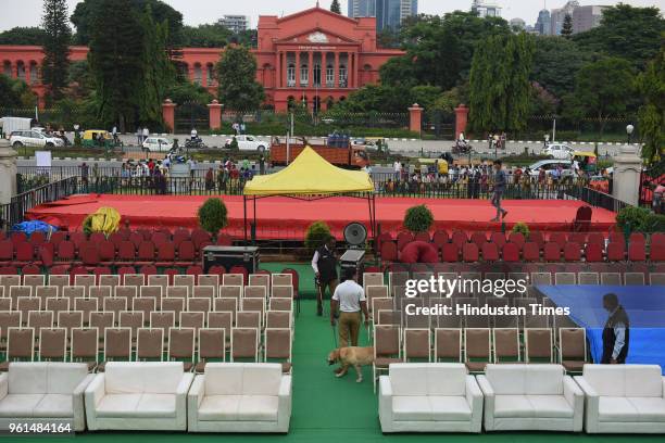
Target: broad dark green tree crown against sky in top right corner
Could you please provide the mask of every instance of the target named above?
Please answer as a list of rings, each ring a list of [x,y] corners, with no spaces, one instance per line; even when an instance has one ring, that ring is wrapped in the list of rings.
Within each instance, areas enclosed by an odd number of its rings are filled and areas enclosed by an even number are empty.
[[[658,53],[665,18],[655,8],[635,8],[619,3],[603,11],[601,24],[573,39],[581,48],[627,59],[642,69]]]

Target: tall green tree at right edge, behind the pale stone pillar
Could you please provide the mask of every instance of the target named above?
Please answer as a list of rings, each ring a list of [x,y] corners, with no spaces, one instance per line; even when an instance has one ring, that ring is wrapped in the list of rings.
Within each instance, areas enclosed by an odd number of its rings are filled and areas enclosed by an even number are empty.
[[[642,157],[652,163],[665,152],[665,36],[661,52],[638,76],[636,86],[643,100],[638,112]]]

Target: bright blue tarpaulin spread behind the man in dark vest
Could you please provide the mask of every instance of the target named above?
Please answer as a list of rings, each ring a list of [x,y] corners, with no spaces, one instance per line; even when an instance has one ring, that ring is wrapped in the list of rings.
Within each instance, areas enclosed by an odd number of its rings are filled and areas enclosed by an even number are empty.
[[[608,313],[603,295],[618,296],[630,321],[630,343],[626,363],[656,364],[665,368],[664,286],[538,286],[537,289],[560,307],[570,308],[570,319],[587,329],[591,356],[599,363],[603,353],[602,332]]]

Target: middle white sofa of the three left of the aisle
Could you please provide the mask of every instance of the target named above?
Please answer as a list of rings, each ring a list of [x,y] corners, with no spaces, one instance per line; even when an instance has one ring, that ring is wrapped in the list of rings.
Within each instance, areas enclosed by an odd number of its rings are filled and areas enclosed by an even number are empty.
[[[181,362],[110,362],[86,389],[88,429],[185,431],[193,379]]]

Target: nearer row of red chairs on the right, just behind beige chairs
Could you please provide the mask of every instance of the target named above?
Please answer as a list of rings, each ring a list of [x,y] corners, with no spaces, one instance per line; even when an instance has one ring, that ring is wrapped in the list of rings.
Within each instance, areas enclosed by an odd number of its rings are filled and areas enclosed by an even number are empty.
[[[582,251],[584,248],[584,251]],[[439,249],[441,262],[644,262],[647,261],[647,246],[644,243],[629,243],[628,250],[624,242],[611,242],[606,250],[602,244],[567,242],[562,248],[559,243],[545,242],[542,250],[538,243],[527,241],[523,245],[509,241],[501,246],[493,242],[484,242],[480,248],[476,243],[443,243]],[[380,256],[384,262],[398,262],[401,252],[393,242],[381,243]],[[649,260],[652,262],[665,261],[665,243],[652,244]]]

